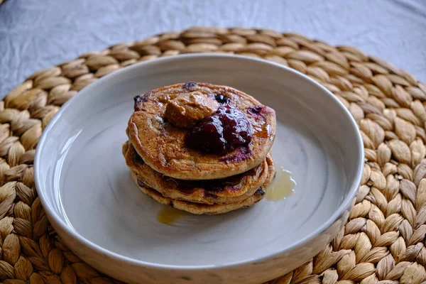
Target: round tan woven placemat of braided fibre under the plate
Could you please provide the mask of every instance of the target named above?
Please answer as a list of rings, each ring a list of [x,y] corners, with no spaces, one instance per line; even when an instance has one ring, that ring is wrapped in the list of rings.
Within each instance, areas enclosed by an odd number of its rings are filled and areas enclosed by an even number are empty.
[[[82,262],[50,227],[34,186],[34,148],[60,106],[99,77],[139,61],[200,52],[266,58],[303,72],[332,91],[361,129],[364,175],[348,223],[324,251],[271,283],[422,283],[426,86],[353,47],[245,28],[192,28],[87,53],[35,72],[0,102],[3,283],[118,283]]]

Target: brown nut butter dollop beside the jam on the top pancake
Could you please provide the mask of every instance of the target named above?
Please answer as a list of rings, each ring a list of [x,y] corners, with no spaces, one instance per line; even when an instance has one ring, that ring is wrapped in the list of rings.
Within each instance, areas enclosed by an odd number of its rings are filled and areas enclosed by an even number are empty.
[[[218,108],[219,103],[213,98],[201,92],[188,92],[170,99],[165,107],[165,118],[175,126],[190,129]]]

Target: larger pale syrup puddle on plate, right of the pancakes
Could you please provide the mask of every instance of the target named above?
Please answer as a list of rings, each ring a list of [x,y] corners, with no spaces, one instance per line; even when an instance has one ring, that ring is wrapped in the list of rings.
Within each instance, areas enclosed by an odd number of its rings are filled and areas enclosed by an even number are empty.
[[[270,201],[280,201],[295,192],[296,182],[291,178],[291,173],[282,167],[277,167],[277,174],[271,185],[266,190],[266,199]]]

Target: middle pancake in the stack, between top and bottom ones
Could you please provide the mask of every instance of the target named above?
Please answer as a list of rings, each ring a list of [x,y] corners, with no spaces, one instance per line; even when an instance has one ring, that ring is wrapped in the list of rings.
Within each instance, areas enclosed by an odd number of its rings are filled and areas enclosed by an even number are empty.
[[[178,180],[156,172],[138,156],[127,141],[123,145],[126,164],[139,183],[153,188],[164,197],[204,204],[240,202],[258,190],[268,177],[268,157],[261,165],[229,178],[220,180]]]

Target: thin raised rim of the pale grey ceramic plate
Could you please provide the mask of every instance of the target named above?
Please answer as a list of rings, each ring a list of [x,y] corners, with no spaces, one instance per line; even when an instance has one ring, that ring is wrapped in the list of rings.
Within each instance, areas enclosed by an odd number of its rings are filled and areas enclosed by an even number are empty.
[[[161,264],[161,263],[152,263],[152,262],[148,262],[148,261],[141,261],[141,260],[138,260],[138,259],[135,259],[135,258],[131,258],[129,256],[123,256],[119,253],[114,253],[113,251],[109,251],[108,249],[105,249],[104,247],[99,246],[98,244],[84,238],[84,236],[80,235],[77,231],[70,228],[70,226],[66,222],[63,222],[62,219],[60,219],[58,214],[55,212],[53,207],[50,205],[50,202],[48,202],[47,198],[45,198],[45,195],[43,194],[43,190],[41,190],[41,188],[43,188],[41,186],[42,182],[39,178],[40,175],[41,175],[39,173],[40,160],[42,159],[41,153],[43,151],[45,141],[48,138],[48,133],[51,132],[50,129],[52,129],[52,127],[57,123],[57,121],[58,121],[58,119],[60,119],[60,116],[62,115],[62,113],[65,112],[70,107],[72,107],[73,102],[77,101],[80,97],[84,97],[86,95],[86,93],[91,92],[92,89],[97,88],[98,85],[103,84],[104,82],[109,80],[111,77],[124,75],[127,72],[132,72],[133,70],[136,70],[136,69],[141,68],[141,67],[149,67],[150,65],[164,64],[165,62],[168,62],[168,61],[173,62],[175,60],[177,60],[177,61],[179,61],[179,60],[191,60],[191,58],[207,58],[207,59],[208,58],[228,58],[229,60],[234,60],[234,59],[248,60],[248,61],[257,62],[257,63],[264,64],[264,65],[273,65],[275,67],[279,67],[283,70],[286,70],[287,72],[291,72],[291,73],[301,77],[303,80],[306,80],[306,81],[310,82],[311,84],[315,84],[316,87],[319,87],[320,89],[322,89],[322,91],[325,93],[325,95],[327,95],[328,97],[331,97],[331,99],[335,103],[337,103],[337,106],[340,107],[344,111],[344,113],[346,114],[346,116],[349,119],[349,123],[351,124],[352,128],[356,131],[356,141],[354,141],[354,144],[356,144],[356,150],[358,150],[359,153],[361,153],[361,155],[359,155],[358,160],[356,161],[356,163],[358,164],[357,174],[356,174],[356,177],[351,182],[348,194],[346,195],[344,200],[342,200],[339,207],[335,210],[335,212],[332,214],[332,216],[327,219],[326,222],[322,223],[317,229],[312,231],[310,234],[307,234],[306,236],[304,236],[302,239],[295,242],[294,244],[290,244],[289,246],[287,246],[283,249],[279,249],[279,250],[277,250],[273,253],[269,253],[265,256],[261,256],[261,257],[253,258],[253,259],[246,259],[244,261],[236,261],[234,263],[225,263],[225,264],[223,264],[223,265],[221,264],[219,266],[218,265],[180,266],[180,265],[169,265],[169,264]],[[232,267],[236,267],[236,266],[243,266],[243,265],[246,265],[246,264],[249,264],[249,263],[253,263],[255,261],[256,262],[266,261],[268,258],[275,258],[276,256],[280,256],[283,253],[286,253],[288,251],[292,251],[293,249],[297,249],[300,246],[304,246],[305,244],[307,244],[312,239],[315,239],[315,237],[319,236],[320,234],[322,234],[322,232],[326,231],[330,226],[332,226],[332,224],[334,222],[336,222],[337,219],[339,219],[342,216],[342,214],[344,214],[344,210],[349,208],[352,200],[354,200],[354,197],[355,197],[356,193],[358,192],[359,185],[361,184],[362,173],[363,173],[363,170],[364,170],[364,156],[365,156],[365,154],[364,154],[364,142],[363,142],[362,137],[361,137],[361,132],[359,131],[359,127],[357,126],[356,121],[355,121],[354,117],[351,115],[350,111],[348,109],[346,109],[344,104],[337,97],[335,97],[334,94],[332,94],[332,92],[330,92],[326,87],[322,86],[322,84],[316,82],[315,80],[312,80],[310,77],[303,74],[302,72],[294,70],[294,69],[287,67],[285,65],[280,65],[276,62],[271,62],[271,61],[265,60],[263,58],[252,58],[252,57],[249,57],[249,56],[246,56],[246,55],[234,55],[234,54],[230,55],[230,54],[221,54],[221,53],[192,53],[192,54],[170,56],[170,57],[164,57],[164,58],[156,58],[155,60],[137,62],[137,63],[130,65],[130,66],[127,66],[125,68],[121,68],[121,70],[116,70],[115,72],[111,72],[108,75],[105,75],[104,77],[99,78],[96,82],[93,82],[92,84],[89,84],[87,87],[84,87],[83,89],[81,89],[79,92],[77,92],[77,94],[75,94],[74,97],[72,97],[67,102],[65,102],[65,104],[62,104],[62,107],[60,107],[59,111],[53,116],[52,119],[50,119],[48,125],[45,126],[45,129],[44,129],[44,131],[43,131],[43,133],[40,136],[40,139],[38,141],[37,147],[35,148],[33,169],[34,169],[35,189],[38,192],[38,196],[40,197],[40,202],[43,205],[43,209],[45,210],[45,213],[47,214],[48,219],[49,219],[49,217],[55,219],[55,223],[58,224],[58,226],[60,226],[60,229],[62,231],[64,231],[67,234],[67,236],[70,236],[72,239],[77,239],[77,241],[84,244],[84,246],[89,247],[89,249],[97,251],[98,253],[103,253],[104,255],[107,255],[109,258],[113,258],[116,261],[123,261],[125,263],[130,263],[130,264],[135,265],[135,266],[142,266],[142,267],[146,267],[146,268],[160,268],[160,269],[178,269],[178,270],[183,270],[183,271],[193,271],[193,270],[202,271],[202,270],[207,269],[207,268],[219,268],[219,269],[220,268],[232,268]],[[355,161],[353,161],[353,163],[355,163]],[[50,223],[53,223],[53,222],[50,222]]]

